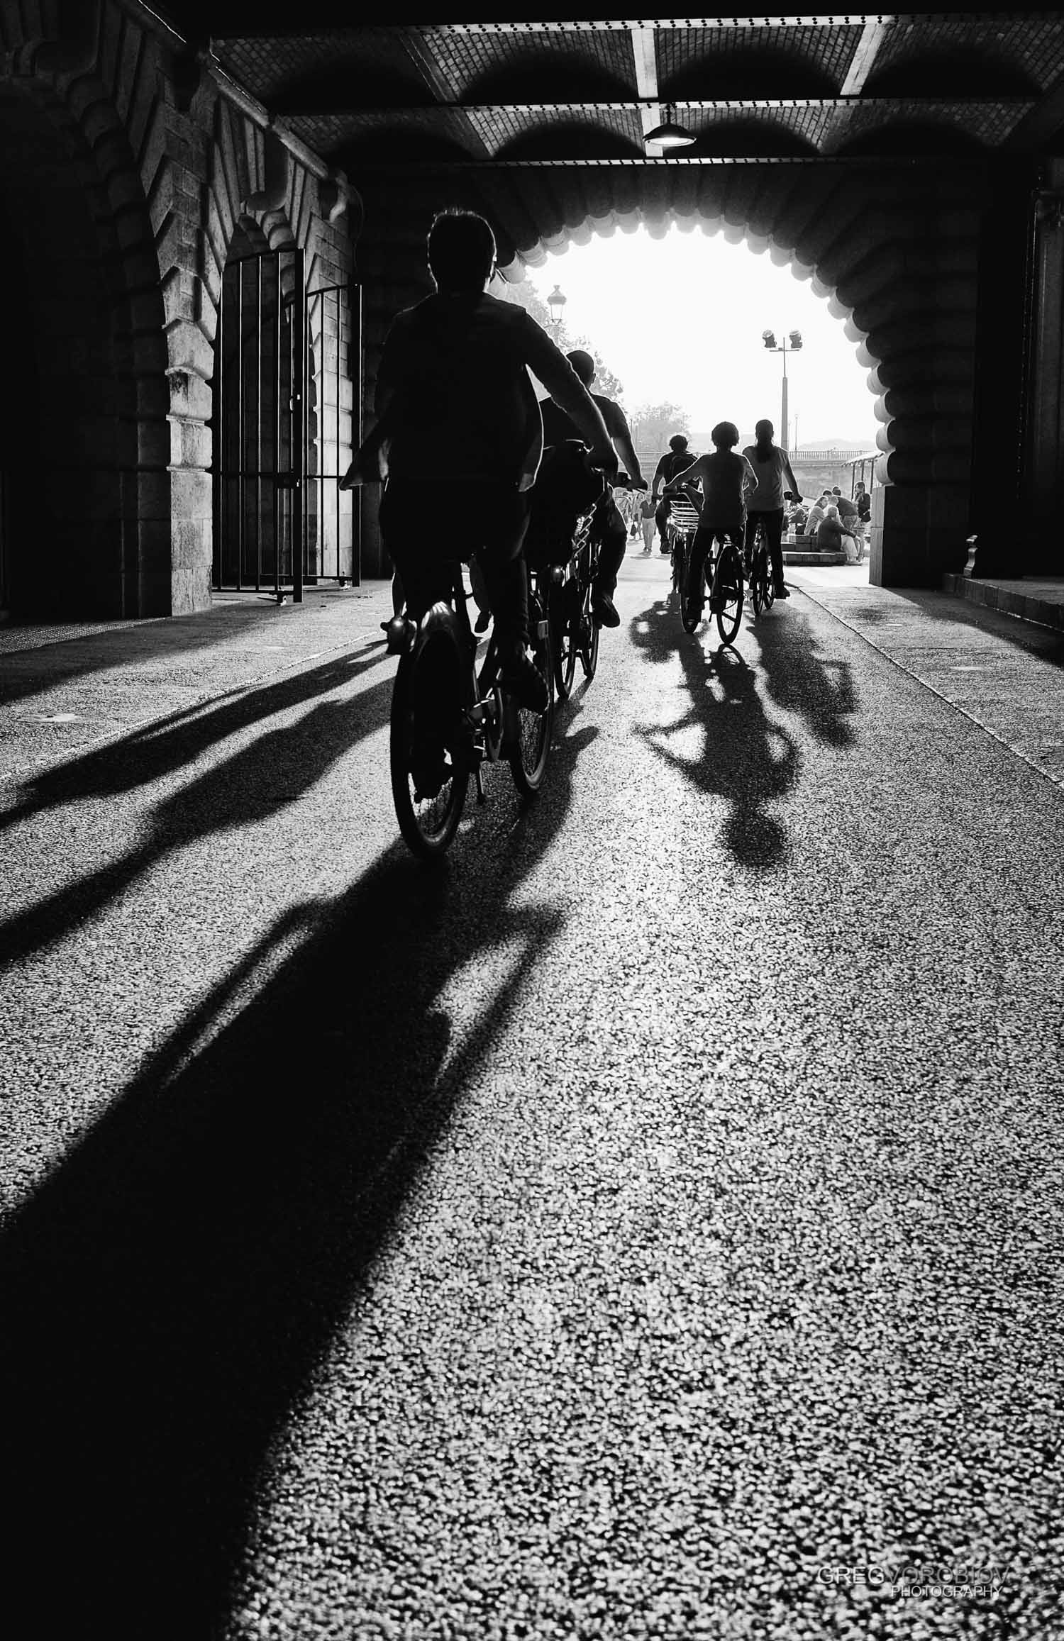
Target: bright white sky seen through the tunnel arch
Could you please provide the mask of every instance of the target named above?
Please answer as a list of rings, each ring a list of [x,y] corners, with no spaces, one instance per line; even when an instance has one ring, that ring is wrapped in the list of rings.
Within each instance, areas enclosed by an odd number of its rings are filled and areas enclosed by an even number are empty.
[[[688,410],[693,432],[729,420],[745,433],[770,417],[778,440],[783,361],[760,338],[773,330],[778,343],[800,330],[801,353],[787,354],[796,443],[875,448],[869,371],[857,363],[842,320],[808,281],[777,267],[767,253],[675,225],[652,240],[639,226],[552,253],[543,267],[529,269],[529,282],[543,300],[555,284],[562,287],[570,335],[594,343],[621,377],[629,412],[670,399]]]

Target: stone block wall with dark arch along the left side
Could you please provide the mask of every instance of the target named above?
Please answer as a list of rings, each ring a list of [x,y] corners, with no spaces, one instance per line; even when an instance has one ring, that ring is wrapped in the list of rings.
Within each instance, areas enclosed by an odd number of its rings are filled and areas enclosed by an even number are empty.
[[[276,138],[151,11],[82,0],[62,10],[66,34],[59,23],[54,0],[0,0],[0,210],[26,292],[33,418],[31,471],[5,473],[21,489],[10,602],[204,609],[230,245],[245,228],[263,248],[300,246],[309,287],[346,289],[350,226],[322,205],[325,167],[287,151],[277,164]]]

